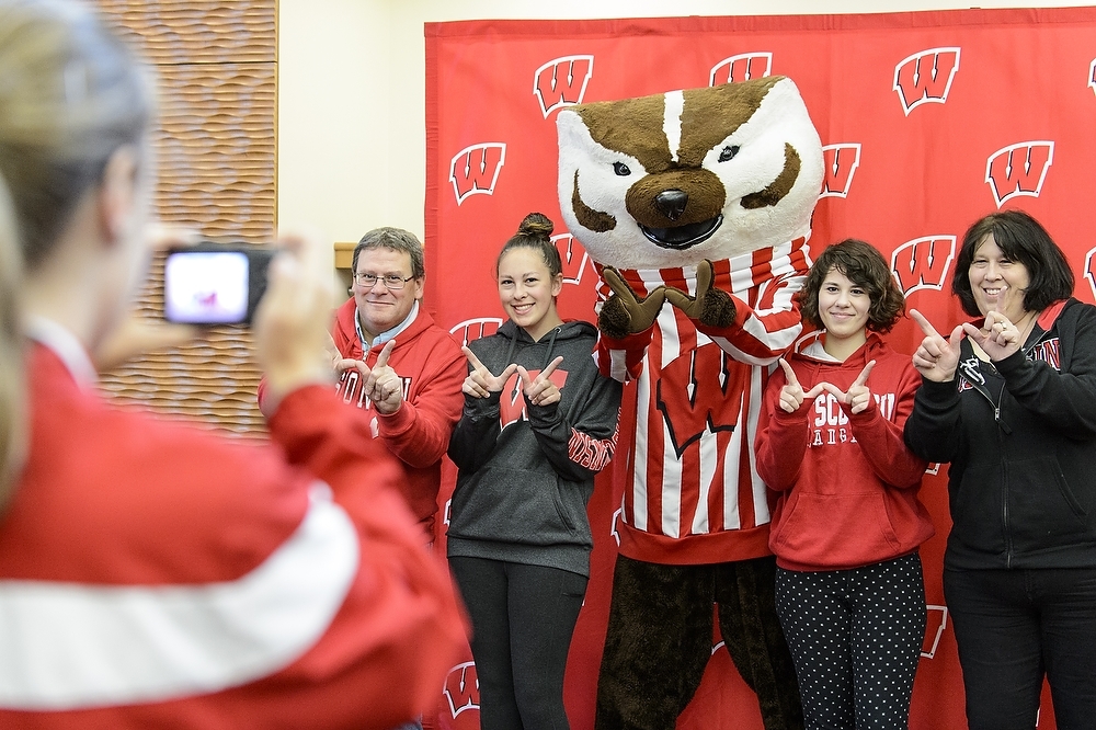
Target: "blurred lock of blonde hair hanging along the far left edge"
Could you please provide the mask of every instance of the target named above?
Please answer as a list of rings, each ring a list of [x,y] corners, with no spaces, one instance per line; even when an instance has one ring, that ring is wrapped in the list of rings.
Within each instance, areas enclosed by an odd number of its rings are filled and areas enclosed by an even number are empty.
[[[11,202],[0,180],[0,511],[11,500],[27,443],[26,349],[19,307],[21,259]]]

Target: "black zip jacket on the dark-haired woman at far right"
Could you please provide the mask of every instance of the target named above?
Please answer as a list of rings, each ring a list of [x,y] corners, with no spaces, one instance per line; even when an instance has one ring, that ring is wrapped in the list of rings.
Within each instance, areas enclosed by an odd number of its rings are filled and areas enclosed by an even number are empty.
[[[1060,301],[990,364],[924,380],[905,443],[950,461],[949,568],[1096,567],[1096,307]]]

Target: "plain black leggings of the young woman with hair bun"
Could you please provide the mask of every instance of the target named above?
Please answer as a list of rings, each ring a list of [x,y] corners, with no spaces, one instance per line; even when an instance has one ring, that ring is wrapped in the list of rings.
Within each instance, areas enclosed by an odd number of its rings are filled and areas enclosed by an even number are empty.
[[[586,577],[482,558],[449,568],[472,619],[481,730],[569,730],[563,672]]]

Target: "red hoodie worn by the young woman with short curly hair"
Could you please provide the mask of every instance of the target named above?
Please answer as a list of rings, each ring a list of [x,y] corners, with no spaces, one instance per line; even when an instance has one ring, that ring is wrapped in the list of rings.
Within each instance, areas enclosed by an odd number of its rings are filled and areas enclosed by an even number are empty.
[[[856,414],[823,392],[795,413],[780,406],[783,369],[769,378],[756,441],[757,474],[779,492],[769,531],[777,564],[841,570],[890,560],[933,536],[917,499],[926,463],[905,447],[902,429],[921,375],[909,355],[868,333],[841,363],[822,349],[824,334],[801,340],[788,358],[803,390],[827,381],[847,390],[869,361],[872,400]]]

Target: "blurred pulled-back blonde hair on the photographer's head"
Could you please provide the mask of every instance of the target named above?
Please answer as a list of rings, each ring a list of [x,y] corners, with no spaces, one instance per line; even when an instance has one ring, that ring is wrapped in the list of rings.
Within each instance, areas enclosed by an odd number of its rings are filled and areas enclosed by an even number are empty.
[[[0,0],[0,172],[28,272],[152,107],[147,71],[90,5]]]

